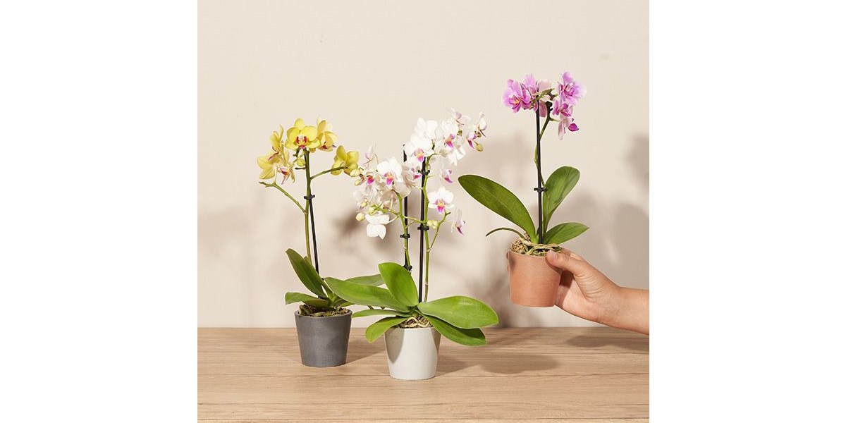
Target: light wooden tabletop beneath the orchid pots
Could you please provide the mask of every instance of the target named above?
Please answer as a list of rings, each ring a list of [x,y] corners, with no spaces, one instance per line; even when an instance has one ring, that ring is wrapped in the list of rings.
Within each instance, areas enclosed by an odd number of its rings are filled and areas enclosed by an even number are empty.
[[[293,328],[201,328],[198,419],[648,421],[649,337],[607,327],[486,328],[488,344],[442,338],[437,376],[388,376],[385,342],[353,328],[347,364],[301,365]]]

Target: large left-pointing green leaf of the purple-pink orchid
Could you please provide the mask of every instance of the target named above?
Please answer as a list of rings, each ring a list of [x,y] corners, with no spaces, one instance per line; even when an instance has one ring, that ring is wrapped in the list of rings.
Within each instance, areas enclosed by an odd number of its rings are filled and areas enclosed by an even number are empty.
[[[537,241],[535,224],[529,216],[529,211],[519,201],[517,195],[512,194],[503,185],[477,175],[461,176],[459,177],[459,184],[475,201],[479,201],[482,206],[486,206],[494,213],[505,217],[526,233],[529,233],[532,242]]]

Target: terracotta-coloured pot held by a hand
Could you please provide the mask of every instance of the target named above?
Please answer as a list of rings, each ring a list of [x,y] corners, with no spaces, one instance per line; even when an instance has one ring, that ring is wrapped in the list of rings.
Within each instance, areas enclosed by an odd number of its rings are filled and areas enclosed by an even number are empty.
[[[511,302],[530,307],[550,307],[558,298],[561,274],[547,259],[508,251],[508,279]]]

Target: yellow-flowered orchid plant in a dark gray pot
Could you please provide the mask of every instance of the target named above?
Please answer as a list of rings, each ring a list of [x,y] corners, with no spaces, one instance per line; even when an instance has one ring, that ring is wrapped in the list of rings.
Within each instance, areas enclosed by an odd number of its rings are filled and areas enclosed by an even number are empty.
[[[271,151],[258,157],[260,184],[281,192],[303,213],[305,256],[292,249],[288,249],[286,254],[300,282],[311,294],[289,292],[285,294],[285,304],[299,303],[299,309],[294,311],[294,320],[300,359],[304,365],[312,367],[343,365],[346,362],[352,318],[351,310],[345,308],[350,303],[333,293],[320,277],[317,256],[312,182],[327,174],[345,173],[353,178],[360,175],[359,153],[345,151],[343,146],[336,147],[337,140],[338,135],[332,132],[326,120],[318,118],[317,124],[312,126],[298,118],[287,133],[279,125],[279,131],[270,135]],[[335,151],[335,157],[332,166],[313,173],[313,155],[318,151]],[[286,182],[294,182],[297,172],[305,173],[305,202],[300,202],[283,188]],[[359,277],[355,282],[380,284],[382,279],[374,275]]]

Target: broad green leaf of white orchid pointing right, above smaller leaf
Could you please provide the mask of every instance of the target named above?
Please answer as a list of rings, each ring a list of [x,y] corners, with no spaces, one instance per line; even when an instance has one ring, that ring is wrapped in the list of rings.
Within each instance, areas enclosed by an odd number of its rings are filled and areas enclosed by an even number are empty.
[[[417,306],[420,313],[435,316],[454,327],[472,329],[486,327],[499,323],[497,312],[478,299],[455,295],[420,303]]]

